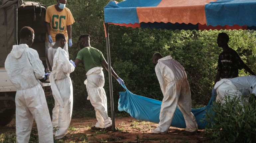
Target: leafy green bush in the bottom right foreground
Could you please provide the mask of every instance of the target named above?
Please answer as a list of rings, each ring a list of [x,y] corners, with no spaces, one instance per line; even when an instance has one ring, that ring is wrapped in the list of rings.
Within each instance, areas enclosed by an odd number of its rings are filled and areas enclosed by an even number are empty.
[[[207,114],[206,131],[221,143],[255,143],[256,142],[256,100],[255,95],[247,96],[249,102],[225,97],[224,104],[214,102],[213,114]],[[244,106],[240,105],[242,102]]]

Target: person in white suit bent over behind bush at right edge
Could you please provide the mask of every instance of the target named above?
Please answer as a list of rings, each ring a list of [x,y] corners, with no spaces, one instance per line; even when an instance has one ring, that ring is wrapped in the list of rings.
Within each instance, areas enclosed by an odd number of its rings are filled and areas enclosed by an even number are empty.
[[[254,93],[256,95],[256,76],[243,76],[231,79],[221,79],[218,81],[214,89],[217,91],[216,101],[225,103],[225,96],[230,98],[237,97],[241,99],[242,95]],[[248,98],[244,98],[248,102]],[[242,101],[239,102],[243,106]]]

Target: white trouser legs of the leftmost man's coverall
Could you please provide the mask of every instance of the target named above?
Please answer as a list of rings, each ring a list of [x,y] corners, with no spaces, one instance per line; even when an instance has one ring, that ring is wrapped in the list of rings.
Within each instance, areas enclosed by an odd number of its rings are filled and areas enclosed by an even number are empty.
[[[16,143],[28,143],[35,119],[39,143],[53,143],[53,127],[41,85],[16,91]]]

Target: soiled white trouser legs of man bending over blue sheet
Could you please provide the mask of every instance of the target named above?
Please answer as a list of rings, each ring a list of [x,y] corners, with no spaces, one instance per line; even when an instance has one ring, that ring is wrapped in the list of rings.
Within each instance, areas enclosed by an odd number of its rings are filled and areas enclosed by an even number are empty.
[[[180,108],[185,122],[186,131],[194,132],[198,129],[194,115],[191,112],[191,92],[187,80],[170,82],[166,86],[165,95],[160,110],[160,122],[155,132],[168,132],[172,123],[176,107]]]

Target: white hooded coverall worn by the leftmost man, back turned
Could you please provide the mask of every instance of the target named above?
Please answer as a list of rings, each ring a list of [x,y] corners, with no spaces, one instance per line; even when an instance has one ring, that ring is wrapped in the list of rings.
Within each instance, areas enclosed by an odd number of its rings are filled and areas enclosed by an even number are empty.
[[[53,127],[45,93],[39,79],[44,78],[44,66],[36,50],[26,44],[14,45],[5,60],[10,81],[17,88],[16,143],[28,143],[33,121],[37,123],[40,143],[53,143]]]

